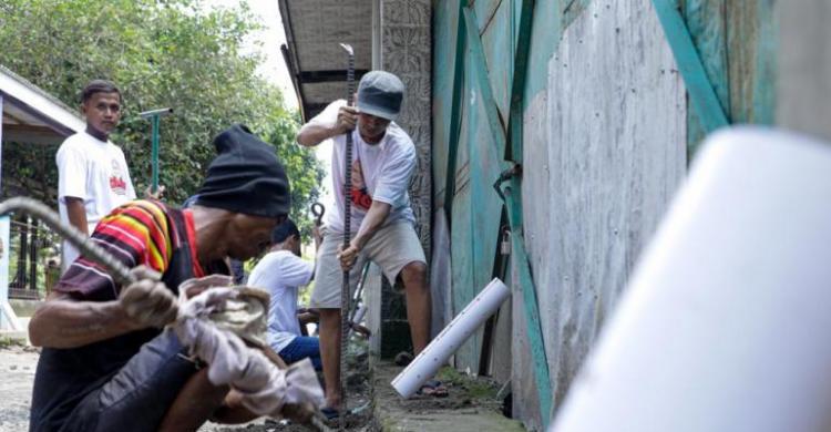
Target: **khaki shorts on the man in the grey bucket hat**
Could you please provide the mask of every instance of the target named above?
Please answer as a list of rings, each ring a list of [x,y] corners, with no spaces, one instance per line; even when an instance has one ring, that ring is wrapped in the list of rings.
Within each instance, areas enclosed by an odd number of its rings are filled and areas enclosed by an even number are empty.
[[[343,270],[340,268],[337,253],[338,246],[342,243],[342,233],[327,232],[324,234],[324,243],[317,253],[315,289],[311,292],[309,304],[312,308],[340,308],[340,287],[343,284]],[[427,264],[419,236],[416,235],[416,228],[409,222],[394,223],[382,227],[367,243],[349,272],[349,286],[352,291],[355,291],[360,271],[367,259],[381,267],[383,275],[392,285],[396,284],[398,274],[408,264]]]

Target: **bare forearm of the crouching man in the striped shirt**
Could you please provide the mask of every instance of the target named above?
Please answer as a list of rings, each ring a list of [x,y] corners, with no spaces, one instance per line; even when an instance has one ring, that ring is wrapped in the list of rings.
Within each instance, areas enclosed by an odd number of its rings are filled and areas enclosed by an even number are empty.
[[[35,347],[75,348],[136,330],[117,300],[78,301],[52,292],[29,321]]]

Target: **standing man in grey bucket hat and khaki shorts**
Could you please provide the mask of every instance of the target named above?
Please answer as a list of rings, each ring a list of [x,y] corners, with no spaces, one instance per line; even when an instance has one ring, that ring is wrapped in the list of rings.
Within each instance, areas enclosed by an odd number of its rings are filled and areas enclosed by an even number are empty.
[[[302,126],[297,142],[315,146],[331,138],[332,189],[336,207],[329,212],[320,245],[311,307],[320,310],[320,353],[329,410],[340,403],[340,288],[342,270],[350,269],[351,286],[366,259],[381,267],[394,285],[401,278],[407,295],[407,318],[416,353],[430,338],[430,289],[427,260],[416,234],[416,217],[407,188],[416,168],[412,140],[394,120],[401,110],[404,86],[398,76],[383,71],[363,75],[358,85],[357,109],[346,101],[330,103]],[[356,128],[357,125],[357,128]],[[352,184],[345,196],[343,160],[346,134],[352,134]],[[351,199],[352,232],[342,250],[343,207]],[[352,228],[355,229],[355,228]],[[337,412],[335,412],[337,414]]]

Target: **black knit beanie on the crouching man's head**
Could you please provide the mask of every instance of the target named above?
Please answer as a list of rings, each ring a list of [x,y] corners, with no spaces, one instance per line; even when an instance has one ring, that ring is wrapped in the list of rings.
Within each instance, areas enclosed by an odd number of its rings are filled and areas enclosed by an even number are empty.
[[[288,215],[288,177],[273,146],[242,124],[219,133],[214,146],[218,156],[208,165],[197,205],[271,218]]]

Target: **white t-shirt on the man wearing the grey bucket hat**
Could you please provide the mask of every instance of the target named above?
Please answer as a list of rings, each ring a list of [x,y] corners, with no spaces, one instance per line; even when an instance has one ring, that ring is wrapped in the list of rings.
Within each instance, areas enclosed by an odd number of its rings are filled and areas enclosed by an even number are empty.
[[[346,105],[345,100],[330,103],[320,114],[309,121],[309,124],[332,126],[338,120],[338,110]],[[332,145],[332,191],[336,208],[327,212],[327,228],[338,233],[343,232],[343,161],[346,160],[346,135],[331,138]],[[357,130],[352,131],[352,176],[360,169],[368,197],[389,204],[389,216],[384,226],[400,220],[416,222],[410,208],[410,196],[407,188],[416,168],[416,146],[398,124],[390,122],[383,138],[378,144],[367,144]],[[366,200],[363,202],[367,203]],[[369,206],[352,200],[351,232],[357,233]]]

